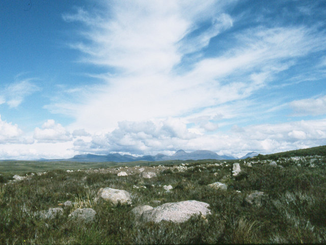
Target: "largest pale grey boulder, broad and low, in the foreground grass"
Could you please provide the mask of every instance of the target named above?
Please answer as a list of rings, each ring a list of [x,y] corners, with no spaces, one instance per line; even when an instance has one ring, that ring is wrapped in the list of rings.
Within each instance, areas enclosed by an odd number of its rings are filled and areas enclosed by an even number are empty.
[[[209,204],[199,201],[183,201],[177,203],[166,203],[151,210],[144,211],[141,220],[143,222],[159,223],[161,220],[173,223],[182,223],[193,215],[210,214]]]

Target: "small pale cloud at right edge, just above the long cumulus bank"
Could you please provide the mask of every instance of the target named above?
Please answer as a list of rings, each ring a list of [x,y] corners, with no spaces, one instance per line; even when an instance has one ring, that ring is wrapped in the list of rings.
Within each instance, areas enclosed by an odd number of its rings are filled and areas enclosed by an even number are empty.
[[[326,95],[292,101],[289,105],[294,110],[294,115],[324,115],[326,114]]]

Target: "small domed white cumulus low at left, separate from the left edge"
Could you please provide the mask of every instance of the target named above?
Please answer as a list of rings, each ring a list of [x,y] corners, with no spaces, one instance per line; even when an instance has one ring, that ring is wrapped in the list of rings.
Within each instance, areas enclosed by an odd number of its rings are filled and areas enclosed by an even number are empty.
[[[37,139],[38,142],[64,142],[70,141],[71,135],[61,124],[56,124],[55,120],[48,119],[41,129],[34,130],[34,139]]]

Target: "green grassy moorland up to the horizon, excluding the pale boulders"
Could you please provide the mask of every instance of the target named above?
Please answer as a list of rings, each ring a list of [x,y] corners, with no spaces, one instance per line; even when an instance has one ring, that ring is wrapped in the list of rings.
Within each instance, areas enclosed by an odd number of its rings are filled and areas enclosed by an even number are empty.
[[[300,150],[296,155],[288,152],[237,161],[1,162],[5,170],[0,170],[0,244],[325,243],[324,150],[325,146],[320,146]],[[269,165],[271,160],[278,166]],[[233,162],[240,163],[242,169],[237,178],[232,177]],[[3,164],[8,164],[7,168]],[[157,177],[143,179],[135,166],[144,164],[146,170],[165,167],[160,168]],[[133,174],[118,177],[117,171],[126,165]],[[66,171],[104,167],[110,168]],[[29,178],[11,182],[17,173],[28,174]],[[228,189],[207,186],[216,181],[227,184]],[[173,190],[166,192],[163,185],[172,185]],[[132,205],[112,208],[95,203],[101,187],[129,191]],[[267,194],[260,206],[244,202],[254,190]],[[206,219],[193,216],[181,224],[154,224],[134,222],[129,212],[138,205],[155,207],[185,200],[208,203],[211,215]],[[75,205],[62,217],[44,220],[34,215],[65,201]],[[70,220],[68,214],[77,207],[93,208],[95,222]]]

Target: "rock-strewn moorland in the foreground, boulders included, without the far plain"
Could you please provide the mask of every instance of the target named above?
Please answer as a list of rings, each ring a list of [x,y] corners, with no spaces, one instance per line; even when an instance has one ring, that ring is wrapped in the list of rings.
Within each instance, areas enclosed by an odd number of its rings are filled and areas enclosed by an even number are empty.
[[[13,175],[0,243],[325,242],[325,168],[258,156]]]

